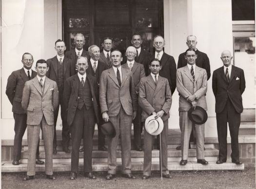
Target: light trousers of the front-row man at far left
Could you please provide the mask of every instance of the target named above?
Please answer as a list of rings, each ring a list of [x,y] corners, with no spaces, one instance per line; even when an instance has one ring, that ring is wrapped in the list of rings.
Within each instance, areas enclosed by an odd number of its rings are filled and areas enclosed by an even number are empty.
[[[54,125],[48,125],[45,117],[42,117],[40,125],[27,125],[28,138],[28,167],[27,175],[34,176],[36,173],[36,151],[39,141],[40,126],[42,128],[44,151],[45,151],[45,174],[53,174],[53,138]]]

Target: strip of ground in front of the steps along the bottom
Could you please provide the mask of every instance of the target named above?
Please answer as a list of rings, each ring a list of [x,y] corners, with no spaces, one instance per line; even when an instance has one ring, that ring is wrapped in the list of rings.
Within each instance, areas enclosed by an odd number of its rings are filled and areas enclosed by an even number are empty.
[[[114,180],[106,181],[106,172],[96,172],[96,180],[83,177],[69,180],[69,172],[57,172],[55,181],[47,180],[44,173],[37,173],[34,180],[22,181],[25,172],[2,173],[2,189],[255,189],[255,168],[244,171],[178,171],[171,172],[172,179],[161,181],[159,172],[153,172],[152,178],[141,179],[141,172],[135,172],[137,179],[130,180],[118,175]]]

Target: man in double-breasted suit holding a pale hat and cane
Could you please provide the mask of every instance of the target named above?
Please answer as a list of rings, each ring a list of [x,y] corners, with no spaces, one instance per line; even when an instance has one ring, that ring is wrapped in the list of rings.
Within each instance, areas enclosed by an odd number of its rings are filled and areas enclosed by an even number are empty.
[[[161,62],[155,58],[150,63],[151,74],[140,79],[138,103],[142,108],[142,120],[145,121],[151,114],[156,115],[156,119],[163,120],[163,131],[161,134],[161,166],[162,174],[165,178],[172,178],[168,170],[168,118],[172,105],[172,94],[168,80],[159,76]],[[152,140],[153,136],[144,129],[144,163],[143,177],[148,179],[151,175],[152,164]],[[160,161],[160,160],[159,160]]]

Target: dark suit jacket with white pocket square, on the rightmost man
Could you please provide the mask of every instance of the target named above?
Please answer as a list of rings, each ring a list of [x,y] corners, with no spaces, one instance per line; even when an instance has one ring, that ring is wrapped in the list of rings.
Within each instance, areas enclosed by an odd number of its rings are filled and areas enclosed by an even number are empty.
[[[215,112],[221,113],[228,98],[236,109],[237,113],[243,112],[242,94],[245,90],[245,78],[242,69],[233,66],[229,83],[226,80],[224,67],[213,72],[213,93],[215,95]]]

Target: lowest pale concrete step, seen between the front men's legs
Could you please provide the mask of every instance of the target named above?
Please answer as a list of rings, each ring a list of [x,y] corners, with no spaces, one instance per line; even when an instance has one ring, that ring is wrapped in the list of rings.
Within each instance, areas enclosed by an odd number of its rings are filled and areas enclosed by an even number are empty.
[[[208,160],[206,158],[206,160]],[[105,162],[98,162],[92,165],[93,171],[107,171],[107,164]],[[121,171],[122,166],[121,163],[118,163],[118,171]],[[244,164],[236,165],[231,162],[223,163],[223,164],[216,164],[215,161],[209,161],[208,165],[201,165],[198,164],[196,161],[188,161],[186,166],[180,166],[179,161],[177,162],[169,162],[168,169],[170,171],[177,171],[177,170],[244,170]],[[55,172],[62,172],[62,171],[70,171],[71,164],[70,163],[54,163],[53,170]],[[143,162],[132,162],[132,170],[133,171],[142,171],[143,170]],[[159,170],[159,163],[152,162],[152,170]],[[22,163],[18,166],[12,165],[12,161],[4,161],[1,162],[1,172],[26,172],[27,171],[27,164]],[[44,172],[45,165],[36,165],[37,172]],[[79,171],[83,171],[83,163],[79,163]],[[58,178],[57,178],[58,179]]]

